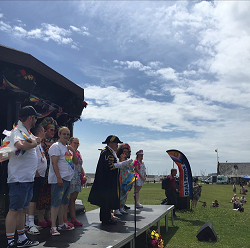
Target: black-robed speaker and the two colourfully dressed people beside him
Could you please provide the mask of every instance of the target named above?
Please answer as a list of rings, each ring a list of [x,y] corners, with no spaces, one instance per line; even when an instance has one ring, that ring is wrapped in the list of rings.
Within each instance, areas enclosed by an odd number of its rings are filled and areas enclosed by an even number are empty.
[[[139,192],[146,180],[146,167],[142,161],[143,150],[136,152],[133,161],[129,144],[117,136],[110,135],[102,143],[106,147],[101,151],[88,201],[100,207],[103,224],[116,224],[118,216],[128,214],[126,199],[135,179],[136,207],[143,208],[139,203]]]

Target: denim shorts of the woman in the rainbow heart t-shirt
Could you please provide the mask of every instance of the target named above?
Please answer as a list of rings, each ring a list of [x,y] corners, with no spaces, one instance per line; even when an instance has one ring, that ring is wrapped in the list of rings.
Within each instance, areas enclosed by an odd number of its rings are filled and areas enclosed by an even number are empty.
[[[61,204],[68,205],[70,197],[70,181],[63,180],[63,186],[57,183],[51,184],[51,206],[59,207]]]

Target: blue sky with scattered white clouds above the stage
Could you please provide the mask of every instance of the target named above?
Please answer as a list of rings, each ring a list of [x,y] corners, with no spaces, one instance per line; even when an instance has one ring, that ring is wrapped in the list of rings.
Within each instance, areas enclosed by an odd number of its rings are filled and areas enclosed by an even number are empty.
[[[144,150],[150,174],[166,150],[193,175],[250,161],[249,1],[1,1],[0,44],[27,52],[85,89],[74,136],[86,172],[117,135]]]

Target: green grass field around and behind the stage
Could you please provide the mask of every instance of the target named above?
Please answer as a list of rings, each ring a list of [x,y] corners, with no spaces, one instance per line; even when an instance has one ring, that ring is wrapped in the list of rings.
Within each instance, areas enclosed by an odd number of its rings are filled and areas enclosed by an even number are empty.
[[[180,218],[175,219],[174,226],[169,220],[169,231],[164,233],[164,219],[161,220],[161,234],[165,247],[182,248],[182,247],[246,247],[250,248],[250,198],[244,204],[243,213],[233,210],[233,204],[230,202],[233,196],[232,185],[203,184],[202,194],[197,207],[191,210],[181,210],[177,214]],[[87,202],[90,188],[84,188],[79,194],[79,199],[87,211],[97,208]],[[239,186],[237,188],[238,196]],[[250,195],[250,192],[249,192]],[[140,191],[140,203],[143,205],[159,205],[165,198],[164,190],[161,189],[160,183],[144,184]],[[212,202],[218,200],[219,207],[211,208]],[[202,207],[203,202],[207,202],[207,207]],[[133,204],[133,193],[130,192],[127,199],[128,204]],[[216,242],[200,242],[196,235],[198,229],[209,221],[216,234]],[[154,228],[156,229],[156,227]]]

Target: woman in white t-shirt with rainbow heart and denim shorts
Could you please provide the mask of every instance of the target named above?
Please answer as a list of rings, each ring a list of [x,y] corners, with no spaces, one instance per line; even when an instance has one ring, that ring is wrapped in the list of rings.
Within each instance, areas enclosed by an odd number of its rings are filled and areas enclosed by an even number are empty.
[[[49,149],[50,168],[48,182],[51,184],[51,235],[60,235],[56,228],[58,216],[58,230],[72,230],[74,227],[64,223],[65,205],[69,204],[70,182],[74,175],[78,158],[74,148],[67,145],[70,131],[61,127],[58,131],[59,140]]]

